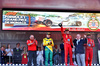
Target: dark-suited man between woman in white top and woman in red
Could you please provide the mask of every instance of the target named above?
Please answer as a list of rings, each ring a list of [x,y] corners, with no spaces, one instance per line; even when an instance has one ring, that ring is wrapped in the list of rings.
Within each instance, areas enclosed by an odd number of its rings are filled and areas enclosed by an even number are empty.
[[[17,43],[16,48],[13,49],[14,64],[21,64],[21,53],[22,49],[20,49],[20,43]]]

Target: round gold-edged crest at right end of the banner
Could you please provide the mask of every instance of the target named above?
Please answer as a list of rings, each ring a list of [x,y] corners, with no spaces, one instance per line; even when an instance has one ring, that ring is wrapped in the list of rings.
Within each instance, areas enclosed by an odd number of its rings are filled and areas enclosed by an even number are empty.
[[[97,30],[99,28],[99,21],[95,16],[92,16],[87,24],[90,30]]]

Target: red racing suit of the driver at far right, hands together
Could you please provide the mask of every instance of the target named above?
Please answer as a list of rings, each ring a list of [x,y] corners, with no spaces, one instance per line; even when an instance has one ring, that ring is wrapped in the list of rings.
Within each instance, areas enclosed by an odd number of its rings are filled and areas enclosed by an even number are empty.
[[[91,66],[93,58],[93,47],[95,46],[94,40],[87,38],[87,44],[85,44],[85,63],[86,66]]]

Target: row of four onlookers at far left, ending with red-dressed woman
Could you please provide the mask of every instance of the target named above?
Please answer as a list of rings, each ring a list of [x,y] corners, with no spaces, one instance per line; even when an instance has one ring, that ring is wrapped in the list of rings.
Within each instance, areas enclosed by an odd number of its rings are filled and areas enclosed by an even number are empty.
[[[5,46],[1,47],[0,50],[0,63],[1,64],[27,64],[28,52],[26,47],[20,47],[20,43],[16,44],[15,48],[11,48],[8,44],[7,48]]]

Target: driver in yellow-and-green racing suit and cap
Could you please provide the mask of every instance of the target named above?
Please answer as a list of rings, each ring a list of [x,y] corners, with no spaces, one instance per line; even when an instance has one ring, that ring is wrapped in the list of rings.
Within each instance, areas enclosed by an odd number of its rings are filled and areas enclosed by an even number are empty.
[[[47,33],[46,38],[43,39],[43,46],[45,46],[45,66],[48,66],[48,59],[50,61],[50,66],[52,66],[52,57],[53,57],[53,39],[50,38],[50,32]]]

